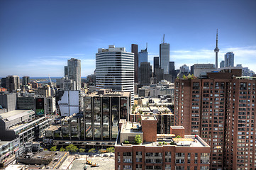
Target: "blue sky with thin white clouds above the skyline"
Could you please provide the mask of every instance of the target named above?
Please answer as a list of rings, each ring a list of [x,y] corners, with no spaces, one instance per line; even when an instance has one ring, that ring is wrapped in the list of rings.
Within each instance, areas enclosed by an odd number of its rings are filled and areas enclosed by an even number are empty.
[[[229,51],[235,64],[256,71],[256,1],[0,0],[0,77],[62,77],[71,57],[82,60],[82,77],[95,69],[95,53],[130,44],[158,56],[165,33],[170,61],[215,63]]]

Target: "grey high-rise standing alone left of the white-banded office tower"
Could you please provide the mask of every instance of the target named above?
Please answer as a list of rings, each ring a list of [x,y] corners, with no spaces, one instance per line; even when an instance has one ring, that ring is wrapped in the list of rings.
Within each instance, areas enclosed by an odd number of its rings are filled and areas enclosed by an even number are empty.
[[[81,89],[81,60],[70,59],[67,60],[68,78],[75,81],[76,89]]]

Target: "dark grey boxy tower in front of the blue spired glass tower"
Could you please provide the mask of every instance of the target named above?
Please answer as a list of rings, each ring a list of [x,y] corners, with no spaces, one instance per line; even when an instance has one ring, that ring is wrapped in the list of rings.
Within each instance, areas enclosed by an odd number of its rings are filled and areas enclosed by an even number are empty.
[[[152,66],[150,62],[140,63],[140,85],[150,85],[152,77]]]

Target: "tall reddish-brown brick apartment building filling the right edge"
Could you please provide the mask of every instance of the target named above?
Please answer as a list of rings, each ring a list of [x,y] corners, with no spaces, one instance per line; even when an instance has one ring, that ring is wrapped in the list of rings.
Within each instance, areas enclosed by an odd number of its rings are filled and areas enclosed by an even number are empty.
[[[241,69],[175,81],[174,125],[211,147],[210,169],[255,169],[256,77]]]

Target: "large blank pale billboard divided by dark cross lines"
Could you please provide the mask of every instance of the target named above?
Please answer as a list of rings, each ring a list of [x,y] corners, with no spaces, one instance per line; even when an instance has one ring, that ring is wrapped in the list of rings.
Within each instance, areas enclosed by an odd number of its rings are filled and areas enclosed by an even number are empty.
[[[60,100],[57,103],[62,116],[79,113],[79,91],[61,91]]]

